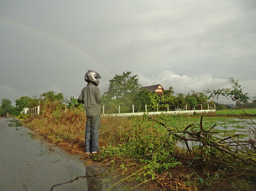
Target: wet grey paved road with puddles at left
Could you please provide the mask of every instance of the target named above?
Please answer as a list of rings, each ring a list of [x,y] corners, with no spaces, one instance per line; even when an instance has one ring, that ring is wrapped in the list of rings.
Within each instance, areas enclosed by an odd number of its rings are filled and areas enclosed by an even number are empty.
[[[1,191],[50,191],[53,185],[77,176],[106,171],[100,166],[85,167],[79,157],[70,156],[44,141],[42,136],[20,126],[20,122],[12,121],[17,120],[0,118]],[[100,191],[109,186],[106,179],[92,177],[53,187],[52,191]],[[126,190],[124,187],[117,185],[111,190]]]

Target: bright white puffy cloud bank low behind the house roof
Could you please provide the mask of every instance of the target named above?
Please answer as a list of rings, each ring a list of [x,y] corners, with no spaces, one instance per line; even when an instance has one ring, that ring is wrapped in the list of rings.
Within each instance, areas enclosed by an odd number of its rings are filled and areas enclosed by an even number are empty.
[[[172,86],[174,94],[183,93],[187,94],[191,90],[196,92],[204,92],[204,90],[209,89],[221,89],[221,88],[231,88],[231,84],[228,82],[229,79],[219,79],[213,78],[210,74],[202,74],[197,76],[183,75],[180,76],[175,74],[171,70],[164,70],[160,72],[157,78],[150,79],[144,77],[141,73],[138,74],[139,83],[145,86],[161,84],[165,90],[168,90]],[[237,79],[236,79],[237,80]],[[248,82],[238,81],[238,84],[244,88],[244,93],[249,93],[249,96],[255,96],[255,83],[256,80],[250,80]],[[234,103],[231,99],[225,97],[219,97],[219,103]],[[216,101],[216,100],[215,100]]]

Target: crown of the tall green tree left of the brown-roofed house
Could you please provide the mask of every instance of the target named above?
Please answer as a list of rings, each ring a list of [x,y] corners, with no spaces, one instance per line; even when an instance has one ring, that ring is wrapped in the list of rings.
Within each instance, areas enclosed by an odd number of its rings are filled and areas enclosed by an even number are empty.
[[[104,92],[110,97],[120,99],[126,94],[137,92],[142,85],[139,84],[137,75],[131,76],[132,72],[123,72],[123,75],[116,75],[113,79],[109,80],[110,84],[108,91]]]

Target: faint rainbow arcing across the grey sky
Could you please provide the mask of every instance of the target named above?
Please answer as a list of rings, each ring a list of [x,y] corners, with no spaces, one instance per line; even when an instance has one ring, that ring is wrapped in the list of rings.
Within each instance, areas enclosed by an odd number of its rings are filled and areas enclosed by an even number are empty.
[[[0,23],[1,24],[5,24],[5,25],[9,25],[9,26],[14,26],[14,27],[22,28],[24,30],[27,30],[27,31],[36,33],[38,35],[44,36],[46,38],[49,38],[51,40],[54,40],[54,41],[64,45],[65,47],[68,47],[71,50],[75,51],[77,54],[82,55],[84,58],[88,59],[92,63],[96,64],[98,67],[100,67],[101,69],[106,71],[110,78],[113,77],[112,72],[110,72],[103,64],[98,62],[95,58],[93,58],[92,56],[90,56],[87,53],[85,53],[83,50],[77,48],[73,44],[71,44],[71,43],[69,43],[69,42],[67,42],[67,41],[65,41],[65,40],[63,40],[63,39],[61,39],[59,37],[53,36],[52,34],[46,33],[44,31],[40,31],[40,30],[38,30],[38,29],[36,29],[36,28],[34,28],[32,26],[28,26],[28,25],[25,25],[25,24],[20,24],[20,23],[17,23],[17,22],[14,22],[14,21],[10,21],[10,20],[7,21],[7,20],[0,19]]]

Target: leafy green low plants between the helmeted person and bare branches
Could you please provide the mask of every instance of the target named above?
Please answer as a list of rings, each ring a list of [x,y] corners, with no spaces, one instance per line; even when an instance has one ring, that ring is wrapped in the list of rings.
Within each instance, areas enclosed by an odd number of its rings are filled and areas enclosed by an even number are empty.
[[[142,182],[154,180],[156,174],[181,164],[173,155],[174,142],[166,129],[145,119],[133,121],[129,128],[122,144],[102,146],[94,159],[111,160],[112,168],[119,166],[123,175],[138,169],[129,177]]]

